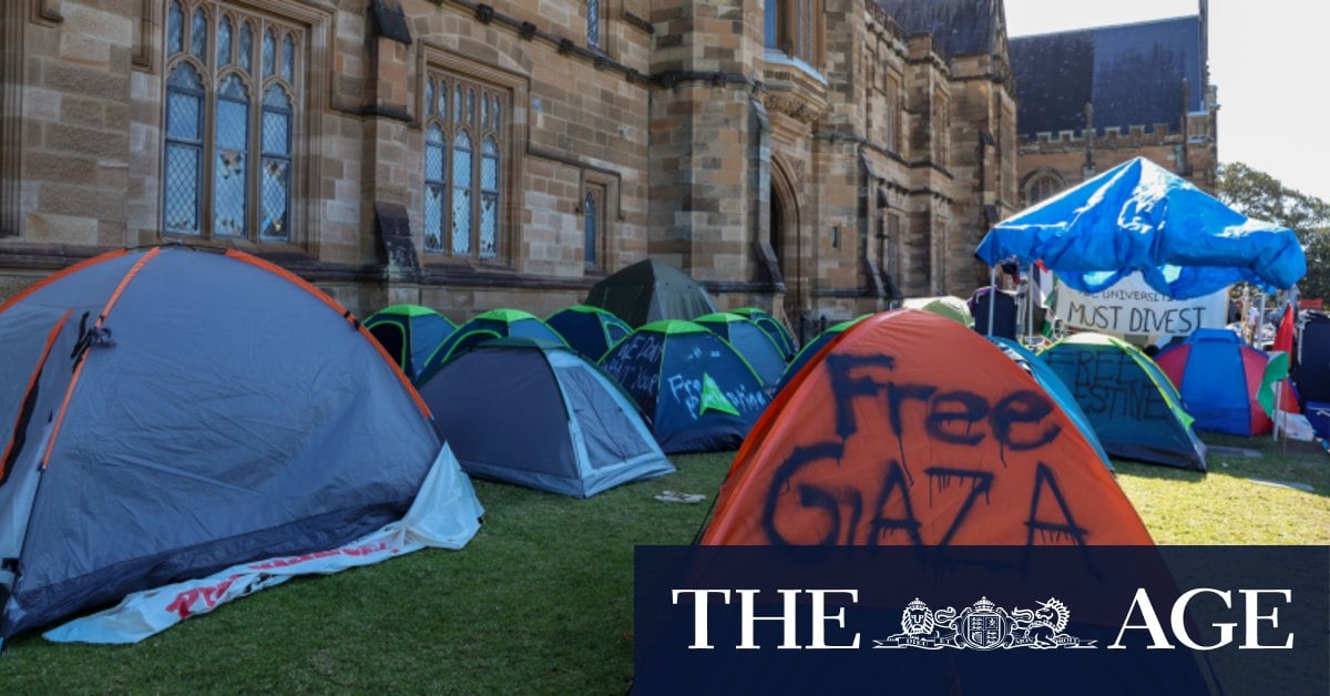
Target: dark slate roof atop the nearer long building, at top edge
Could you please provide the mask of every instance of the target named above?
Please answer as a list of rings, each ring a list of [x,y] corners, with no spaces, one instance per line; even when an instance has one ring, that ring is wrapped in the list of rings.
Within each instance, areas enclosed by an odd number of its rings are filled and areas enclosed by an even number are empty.
[[[931,33],[951,56],[998,51],[1001,0],[876,0],[906,33]]]

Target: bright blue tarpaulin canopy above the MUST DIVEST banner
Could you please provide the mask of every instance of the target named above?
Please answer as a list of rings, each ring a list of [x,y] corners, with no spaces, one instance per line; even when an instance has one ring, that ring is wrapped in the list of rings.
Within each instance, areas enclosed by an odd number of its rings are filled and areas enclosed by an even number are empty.
[[[1000,222],[976,256],[990,266],[1043,261],[1083,293],[1138,270],[1176,299],[1236,281],[1286,289],[1307,270],[1293,230],[1248,218],[1141,157]]]

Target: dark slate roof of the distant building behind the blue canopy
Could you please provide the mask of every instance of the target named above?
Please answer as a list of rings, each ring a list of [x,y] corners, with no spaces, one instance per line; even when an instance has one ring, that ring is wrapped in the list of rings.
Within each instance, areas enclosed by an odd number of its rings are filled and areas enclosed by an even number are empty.
[[[1124,133],[1154,124],[1177,130],[1184,79],[1188,109],[1202,109],[1202,47],[1197,16],[1011,37],[1016,129],[1025,136],[1079,132],[1092,102],[1097,133],[1115,125]]]

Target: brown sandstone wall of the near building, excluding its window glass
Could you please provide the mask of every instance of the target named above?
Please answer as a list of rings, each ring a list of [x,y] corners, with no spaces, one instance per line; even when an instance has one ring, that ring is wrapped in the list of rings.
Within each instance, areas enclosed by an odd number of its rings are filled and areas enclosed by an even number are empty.
[[[817,65],[773,60],[762,0],[601,3],[598,47],[580,0],[196,5],[299,36],[291,237],[174,240],[258,253],[358,313],[548,314],[650,254],[722,307],[849,318],[968,291],[974,230],[1009,197],[996,162],[1015,161],[1015,142],[984,140],[1005,85],[863,0],[821,0]],[[0,4],[0,297],[100,250],[173,238],[169,7]],[[495,258],[426,249],[431,75],[505,94]],[[602,206],[593,265],[588,193]],[[391,234],[407,249],[390,254]]]

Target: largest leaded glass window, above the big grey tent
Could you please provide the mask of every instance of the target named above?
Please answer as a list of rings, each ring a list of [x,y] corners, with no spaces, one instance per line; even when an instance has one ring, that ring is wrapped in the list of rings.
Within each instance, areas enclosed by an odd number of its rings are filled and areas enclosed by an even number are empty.
[[[245,7],[170,1],[165,232],[290,240],[302,47],[298,27]]]

